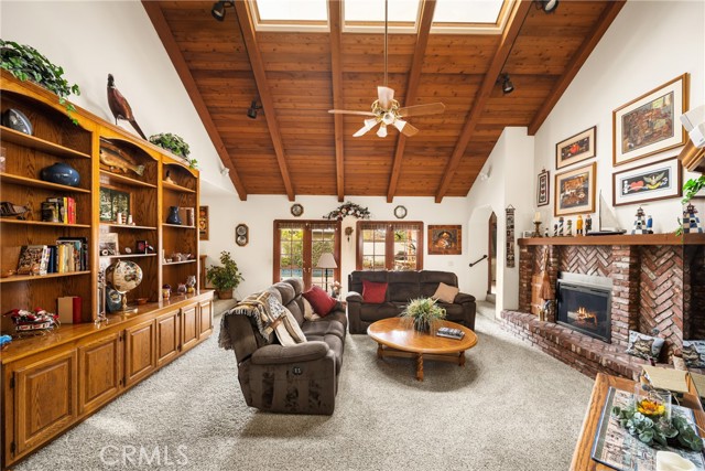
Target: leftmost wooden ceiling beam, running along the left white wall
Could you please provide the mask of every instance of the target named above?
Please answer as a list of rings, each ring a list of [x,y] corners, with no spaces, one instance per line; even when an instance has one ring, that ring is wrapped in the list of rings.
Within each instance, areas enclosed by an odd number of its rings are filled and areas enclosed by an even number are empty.
[[[186,60],[181,53],[181,49],[172,34],[172,30],[166,23],[166,19],[164,18],[164,13],[162,13],[162,9],[159,6],[159,2],[155,1],[142,1],[142,7],[147,12],[147,15],[150,18],[156,34],[162,41],[162,45],[166,50],[166,54],[174,64],[174,68],[181,78],[182,84],[186,88],[186,93],[191,98],[191,101],[196,108],[196,113],[203,122],[203,126],[206,128],[206,132],[213,142],[213,146],[216,148],[216,152],[218,152],[218,157],[223,164],[230,170],[230,181],[235,186],[235,190],[238,192],[238,196],[240,196],[241,201],[247,201],[247,191],[245,189],[245,184],[242,184],[242,180],[238,174],[232,160],[230,160],[230,154],[228,153],[223,139],[220,138],[220,133],[218,132],[218,128],[215,122],[213,122],[213,118],[210,117],[210,113],[208,111],[208,107],[198,90],[198,86],[196,85],[196,81],[191,74],[191,69],[188,68],[188,64],[186,64]],[[215,20],[214,20],[215,21]]]

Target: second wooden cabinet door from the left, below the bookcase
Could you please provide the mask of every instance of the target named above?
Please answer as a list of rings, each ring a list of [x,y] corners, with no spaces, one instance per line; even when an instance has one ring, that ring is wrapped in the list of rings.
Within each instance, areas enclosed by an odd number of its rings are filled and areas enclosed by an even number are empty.
[[[106,404],[122,385],[122,332],[78,346],[78,413]]]

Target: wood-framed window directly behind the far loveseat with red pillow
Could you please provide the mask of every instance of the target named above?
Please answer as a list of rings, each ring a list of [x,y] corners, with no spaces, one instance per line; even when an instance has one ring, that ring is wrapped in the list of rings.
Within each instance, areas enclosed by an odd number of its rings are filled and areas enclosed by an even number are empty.
[[[358,221],[358,270],[423,269],[423,223]]]

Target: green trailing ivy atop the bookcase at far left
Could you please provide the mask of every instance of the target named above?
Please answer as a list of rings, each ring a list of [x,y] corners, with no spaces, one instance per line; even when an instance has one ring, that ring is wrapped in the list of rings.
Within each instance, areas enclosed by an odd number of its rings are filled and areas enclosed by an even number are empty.
[[[68,116],[76,111],[74,105],[68,103],[66,98],[72,94],[80,95],[80,88],[76,84],[70,85],[64,78],[64,67],[52,64],[34,47],[0,40],[0,68],[10,72],[22,82],[34,82],[55,93],[58,96],[58,103],[66,107]],[[74,124],[78,124],[76,119],[72,118],[72,120]]]

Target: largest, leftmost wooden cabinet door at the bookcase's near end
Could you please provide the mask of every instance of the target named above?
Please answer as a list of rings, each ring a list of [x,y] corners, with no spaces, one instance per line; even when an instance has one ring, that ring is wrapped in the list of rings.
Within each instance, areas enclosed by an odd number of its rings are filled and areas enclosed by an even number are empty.
[[[76,351],[14,371],[15,454],[54,437],[77,417]]]

